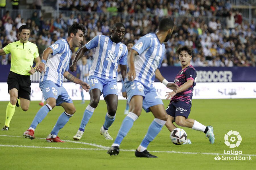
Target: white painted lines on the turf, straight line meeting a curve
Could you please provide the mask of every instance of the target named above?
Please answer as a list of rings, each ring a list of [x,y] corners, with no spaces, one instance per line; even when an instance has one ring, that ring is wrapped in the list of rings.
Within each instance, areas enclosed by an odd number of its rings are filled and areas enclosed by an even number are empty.
[[[10,135],[0,135],[0,136],[5,136],[5,137],[22,137],[22,136],[10,136]],[[46,139],[46,138],[36,138],[36,139]],[[93,143],[85,143],[85,142],[77,142],[77,141],[67,141],[66,142],[71,142],[71,143],[80,143],[84,145],[90,145],[90,146],[95,146],[98,148],[62,148],[62,147],[44,147],[44,146],[24,146],[24,145],[1,145],[0,146],[6,146],[6,147],[24,147],[24,148],[51,148],[51,149],[80,149],[80,150],[108,150],[108,146],[102,146],[102,145],[97,145]],[[121,151],[126,151],[126,152],[134,152],[135,150],[127,150],[127,149],[120,149]],[[207,153],[207,152],[179,152],[179,151],[149,151],[149,152],[156,152],[156,153],[174,153],[174,154],[203,154],[203,155],[226,155],[226,154],[220,154],[220,153]],[[228,154],[228,155],[235,155],[235,154]],[[241,156],[256,156],[256,155],[251,155],[251,154],[240,154]]]

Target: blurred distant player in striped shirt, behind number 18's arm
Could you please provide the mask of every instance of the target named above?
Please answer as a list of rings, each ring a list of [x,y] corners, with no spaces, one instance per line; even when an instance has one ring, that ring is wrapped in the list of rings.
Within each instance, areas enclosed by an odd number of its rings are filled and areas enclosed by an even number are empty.
[[[90,63],[87,62],[86,56],[83,56],[82,64],[77,67],[77,78],[89,84],[88,78],[89,78],[90,68],[91,68],[91,65]],[[84,104],[84,93],[83,93],[82,86],[80,86],[80,90],[81,90],[82,104]]]

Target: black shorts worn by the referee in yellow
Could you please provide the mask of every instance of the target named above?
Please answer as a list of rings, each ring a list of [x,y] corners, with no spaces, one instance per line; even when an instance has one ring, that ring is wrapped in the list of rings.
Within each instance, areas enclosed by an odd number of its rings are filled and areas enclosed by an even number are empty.
[[[8,79],[8,93],[9,90],[16,88],[18,90],[18,98],[30,100],[31,79],[30,76],[24,76],[10,71]]]

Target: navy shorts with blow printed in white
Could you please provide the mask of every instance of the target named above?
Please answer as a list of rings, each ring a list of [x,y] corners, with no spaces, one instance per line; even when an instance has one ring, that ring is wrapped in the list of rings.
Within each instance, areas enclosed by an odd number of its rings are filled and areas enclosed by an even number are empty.
[[[168,105],[166,109],[166,113],[174,118],[176,116],[184,116],[185,118],[188,118],[190,109],[191,109],[191,105],[189,105],[185,101],[175,101],[175,102],[171,102]]]

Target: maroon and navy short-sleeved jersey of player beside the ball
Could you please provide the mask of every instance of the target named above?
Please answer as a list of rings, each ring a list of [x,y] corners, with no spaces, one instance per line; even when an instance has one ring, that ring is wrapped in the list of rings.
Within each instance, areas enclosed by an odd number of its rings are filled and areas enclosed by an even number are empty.
[[[189,65],[185,69],[179,71],[179,73],[175,77],[174,82],[180,87],[182,84],[187,82],[187,80],[193,80],[194,81],[193,85],[191,87],[189,87],[187,90],[184,90],[183,92],[179,92],[176,95],[174,95],[172,97],[171,102],[185,101],[186,103],[191,105],[193,89],[197,82],[197,71],[195,70],[195,68],[192,65]]]

